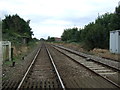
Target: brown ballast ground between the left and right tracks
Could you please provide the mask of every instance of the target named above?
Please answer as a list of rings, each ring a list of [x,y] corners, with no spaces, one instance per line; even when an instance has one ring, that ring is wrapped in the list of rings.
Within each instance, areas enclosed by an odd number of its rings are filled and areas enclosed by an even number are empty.
[[[82,65],[75,63],[52,47],[49,47],[53,60],[67,88],[110,88],[105,80],[92,73]],[[83,58],[73,56],[77,60]]]

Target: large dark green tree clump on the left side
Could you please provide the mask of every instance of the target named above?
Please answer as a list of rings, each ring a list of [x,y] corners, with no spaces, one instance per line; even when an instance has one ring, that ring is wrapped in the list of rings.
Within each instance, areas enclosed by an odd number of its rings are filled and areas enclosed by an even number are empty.
[[[33,32],[29,26],[30,20],[25,21],[16,15],[7,15],[2,20],[3,39],[20,43],[22,38],[32,39]]]

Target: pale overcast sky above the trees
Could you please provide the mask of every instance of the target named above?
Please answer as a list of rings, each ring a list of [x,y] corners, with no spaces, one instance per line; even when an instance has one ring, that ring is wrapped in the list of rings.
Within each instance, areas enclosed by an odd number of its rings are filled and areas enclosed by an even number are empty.
[[[83,28],[100,15],[115,11],[119,0],[0,0],[0,17],[18,14],[31,20],[36,38],[60,37],[66,28]]]

